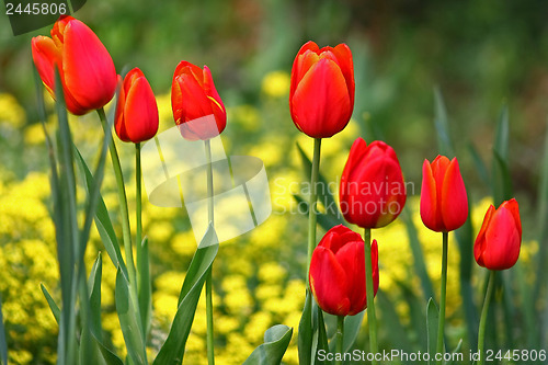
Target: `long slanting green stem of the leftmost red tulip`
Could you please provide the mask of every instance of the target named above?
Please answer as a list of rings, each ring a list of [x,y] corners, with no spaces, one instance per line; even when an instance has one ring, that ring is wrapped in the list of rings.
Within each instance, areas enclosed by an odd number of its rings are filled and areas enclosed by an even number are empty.
[[[109,128],[109,123],[106,122],[106,115],[103,109],[98,110],[101,124],[103,129],[106,132]],[[136,275],[135,275],[135,264],[134,255],[132,249],[132,231],[129,229],[129,213],[127,209],[127,197],[124,185],[124,175],[122,174],[122,167],[119,164],[118,151],[116,150],[116,145],[114,144],[114,138],[111,138],[109,144],[109,150],[111,152],[112,167],[114,169],[114,175],[116,176],[116,186],[118,192],[119,209],[122,213],[122,237],[124,240],[124,251],[126,253],[126,265],[128,272],[129,284],[135,287]]]

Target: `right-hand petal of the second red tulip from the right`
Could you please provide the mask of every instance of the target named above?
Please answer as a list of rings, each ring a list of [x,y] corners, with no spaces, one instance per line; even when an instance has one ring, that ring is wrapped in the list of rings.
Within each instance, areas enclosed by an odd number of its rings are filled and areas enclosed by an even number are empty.
[[[436,180],[436,183],[439,184],[439,180]],[[445,230],[450,231],[463,226],[468,218],[468,197],[456,158],[450,161],[445,171],[441,202]]]

